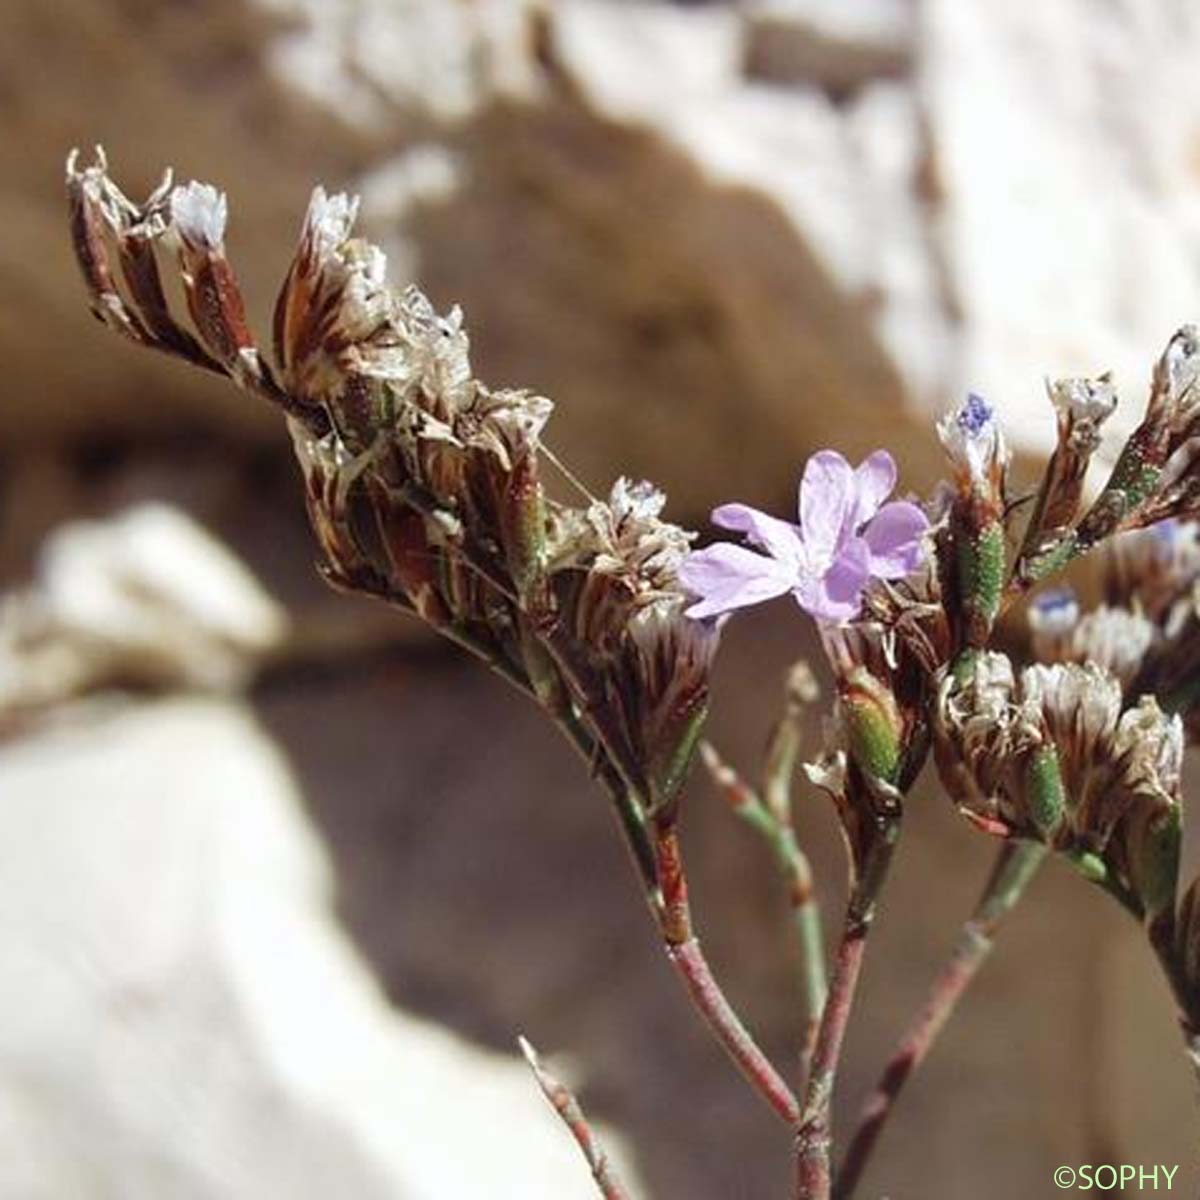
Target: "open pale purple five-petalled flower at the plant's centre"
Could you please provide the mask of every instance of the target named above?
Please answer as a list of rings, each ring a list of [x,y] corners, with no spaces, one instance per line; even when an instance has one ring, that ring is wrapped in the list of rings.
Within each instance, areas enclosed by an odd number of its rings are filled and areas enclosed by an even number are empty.
[[[895,482],[887,450],[857,468],[836,451],[821,450],[804,467],[799,524],[746,504],[714,509],[714,524],[737,530],[766,553],[719,542],[689,554],[679,581],[698,600],[688,616],[715,617],[791,592],[818,620],[856,617],[870,578],[899,578],[924,556],[925,514],[907,500],[883,503]]]

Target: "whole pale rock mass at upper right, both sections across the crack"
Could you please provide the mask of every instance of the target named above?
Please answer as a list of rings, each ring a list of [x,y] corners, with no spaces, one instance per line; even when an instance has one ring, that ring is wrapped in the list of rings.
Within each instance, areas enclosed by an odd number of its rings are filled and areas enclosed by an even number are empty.
[[[1112,368],[1111,428],[1136,424],[1200,294],[1195,6],[554,11],[598,110],[775,199],[833,280],[870,298],[916,407],[980,390],[1019,448],[1046,449],[1043,377]]]

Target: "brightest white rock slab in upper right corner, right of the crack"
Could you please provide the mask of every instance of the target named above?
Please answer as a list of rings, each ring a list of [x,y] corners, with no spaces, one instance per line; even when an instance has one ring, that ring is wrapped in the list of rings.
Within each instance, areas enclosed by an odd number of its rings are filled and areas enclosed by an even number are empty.
[[[961,312],[958,390],[1046,446],[1043,376],[1112,368],[1128,431],[1200,295],[1200,10],[923,6],[923,108]]]

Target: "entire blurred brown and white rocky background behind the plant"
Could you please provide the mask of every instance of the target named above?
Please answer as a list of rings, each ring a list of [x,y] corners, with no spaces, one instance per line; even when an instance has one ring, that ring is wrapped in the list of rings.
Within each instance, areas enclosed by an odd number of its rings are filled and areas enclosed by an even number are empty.
[[[1200,311],[1198,53],[1187,0],[8,0],[0,1195],[588,1196],[517,1031],[643,1195],[788,1175],[553,733],[319,583],[275,413],[89,319],[72,145],[133,193],[166,164],[228,190],[260,331],[312,184],[361,192],[394,276],[463,305],[478,373],[556,398],[580,475],[647,475],[702,528],[786,508],[821,445],[886,444],[928,488],[967,386],[1033,454],[1043,377],[1111,367],[1130,427]],[[731,629],[727,755],[754,764],[812,649],[785,605]],[[688,803],[709,955],[787,1061],[781,896],[703,780]],[[842,1128],[989,854],[917,798]],[[1136,931],[1050,869],[865,1190],[1157,1162],[1190,1194],[1189,1103]]]

